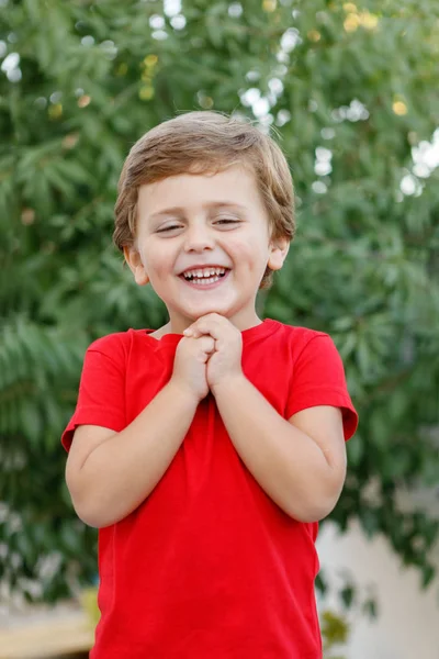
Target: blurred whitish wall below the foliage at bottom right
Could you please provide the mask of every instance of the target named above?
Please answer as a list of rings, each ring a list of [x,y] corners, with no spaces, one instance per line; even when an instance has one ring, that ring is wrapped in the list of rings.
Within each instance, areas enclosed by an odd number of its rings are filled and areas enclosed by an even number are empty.
[[[357,613],[352,621],[347,659],[439,659],[439,579],[420,590],[420,574],[404,569],[383,537],[365,538],[358,524],[338,535],[333,524],[320,530],[317,550],[320,566],[334,583],[349,570],[361,590],[374,584],[379,617],[370,622]],[[434,559],[439,566],[439,547]],[[325,606],[334,606],[330,595]]]

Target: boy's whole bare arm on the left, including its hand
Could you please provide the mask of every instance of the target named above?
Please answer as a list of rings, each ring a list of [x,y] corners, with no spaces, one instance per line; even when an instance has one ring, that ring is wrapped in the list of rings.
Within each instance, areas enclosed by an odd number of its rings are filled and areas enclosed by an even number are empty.
[[[80,425],[66,466],[78,516],[97,528],[126,517],[154,490],[209,391],[205,362],[213,340],[183,338],[169,383],[123,431]]]

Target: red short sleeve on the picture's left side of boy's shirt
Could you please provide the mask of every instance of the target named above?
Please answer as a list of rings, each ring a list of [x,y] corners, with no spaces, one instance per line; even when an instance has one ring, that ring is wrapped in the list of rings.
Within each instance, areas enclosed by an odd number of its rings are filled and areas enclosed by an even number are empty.
[[[67,451],[79,425],[99,425],[116,433],[125,427],[124,370],[124,351],[117,335],[98,339],[88,348],[77,406],[61,436]]]

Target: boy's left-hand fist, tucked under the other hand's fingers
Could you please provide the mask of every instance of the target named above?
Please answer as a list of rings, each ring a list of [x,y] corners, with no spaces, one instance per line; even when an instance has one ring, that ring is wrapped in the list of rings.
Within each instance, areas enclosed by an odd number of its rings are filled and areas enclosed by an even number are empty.
[[[182,389],[189,389],[198,402],[209,393],[206,361],[214,349],[212,336],[183,336],[177,346],[171,380]]]

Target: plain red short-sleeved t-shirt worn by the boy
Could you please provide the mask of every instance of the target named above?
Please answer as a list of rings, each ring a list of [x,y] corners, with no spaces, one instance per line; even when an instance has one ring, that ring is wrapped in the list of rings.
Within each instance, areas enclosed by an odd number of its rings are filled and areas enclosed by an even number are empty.
[[[81,424],[125,428],[169,380],[180,338],[128,330],[94,342],[64,447]],[[246,377],[284,418],[334,405],[346,439],[354,433],[328,335],[266,320],[243,344]],[[317,523],[291,518],[264,493],[209,395],[153,492],[99,530],[90,659],[320,659],[316,535]]]

